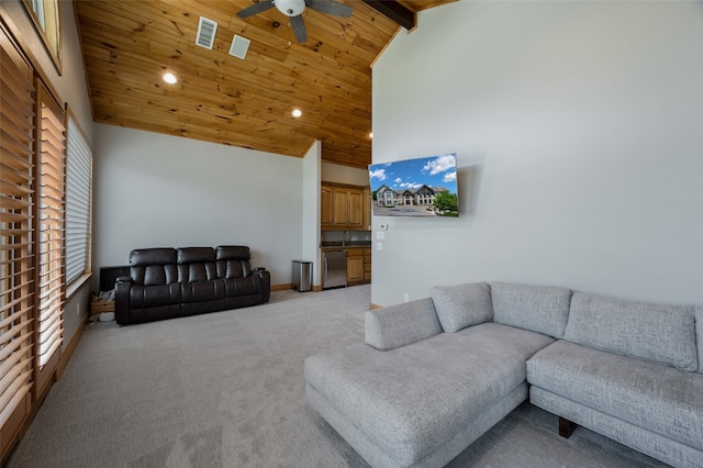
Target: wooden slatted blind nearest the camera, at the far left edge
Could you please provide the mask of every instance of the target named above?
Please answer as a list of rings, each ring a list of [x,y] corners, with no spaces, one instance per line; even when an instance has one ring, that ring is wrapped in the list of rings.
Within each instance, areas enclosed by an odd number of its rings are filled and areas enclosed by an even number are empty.
[[[34,85],[0,26],[0,450],[31,410]]]

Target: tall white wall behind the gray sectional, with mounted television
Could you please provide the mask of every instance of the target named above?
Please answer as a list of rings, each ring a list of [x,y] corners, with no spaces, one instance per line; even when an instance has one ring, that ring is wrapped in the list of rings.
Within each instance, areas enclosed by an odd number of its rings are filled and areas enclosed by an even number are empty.
[[[472,2],[373,67],[373,163],[456,152],[460,218],[373,218],[372,302],[555,285],[703,304],[703,3]]]

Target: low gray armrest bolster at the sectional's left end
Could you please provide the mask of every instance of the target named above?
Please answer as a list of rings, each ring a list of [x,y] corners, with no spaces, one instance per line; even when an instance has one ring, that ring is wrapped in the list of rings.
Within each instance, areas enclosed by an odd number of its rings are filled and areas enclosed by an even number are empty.
[[[399,348],[442,333],[431,298],[368,311],[365,327],[366,344],[380,350]]]

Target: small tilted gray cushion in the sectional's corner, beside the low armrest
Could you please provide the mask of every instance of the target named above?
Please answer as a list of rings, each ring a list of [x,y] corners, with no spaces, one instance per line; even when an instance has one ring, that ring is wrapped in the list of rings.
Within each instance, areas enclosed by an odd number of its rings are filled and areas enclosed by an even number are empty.
[[[434,286],[429,288],[429,296],[439,323],[447,333],[456,333],[493,319],[491,288],[488,282]]]

